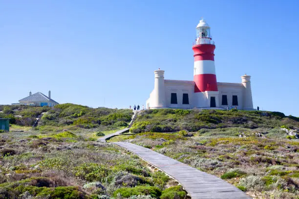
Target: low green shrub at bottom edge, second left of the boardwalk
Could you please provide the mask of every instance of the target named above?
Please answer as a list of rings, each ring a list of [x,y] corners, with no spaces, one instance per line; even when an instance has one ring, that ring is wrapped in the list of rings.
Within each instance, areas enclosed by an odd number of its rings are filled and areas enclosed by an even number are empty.
[[[159,196],[161,196],[161,190],[153,186],[135,186],[133,188],[120,188],[113,192],[113,197],[116,197],[118,193],[120,193],[120,195],[124,198],[129,198],[130,196],[134,195],[150,195],[154,198],[159,198]]]

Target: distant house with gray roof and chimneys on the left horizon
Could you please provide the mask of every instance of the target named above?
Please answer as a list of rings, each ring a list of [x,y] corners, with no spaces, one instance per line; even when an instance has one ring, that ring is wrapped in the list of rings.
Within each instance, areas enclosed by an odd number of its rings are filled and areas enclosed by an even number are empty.
[[[19,100],[19,103],[13,103],[14,105],[27,105],[27,106],[49,106],[53,107],[59,104],[57,101],[51,99],[51,91],[49,91],[49,95],[46,96],[41,92],[37,92],[35,94],[31,94],[29,92],[29,96]]]

